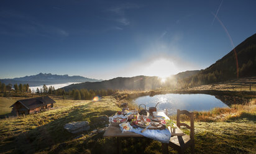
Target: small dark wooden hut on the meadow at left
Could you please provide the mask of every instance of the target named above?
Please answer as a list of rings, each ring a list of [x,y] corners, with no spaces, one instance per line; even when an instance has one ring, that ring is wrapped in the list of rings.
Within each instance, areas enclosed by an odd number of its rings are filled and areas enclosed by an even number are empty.
[[[34,97],[30,99],[21,99],[12,104],[12,114],[19,116],[21,114],[31,114],[53,107],[53,101],[48,96]]]

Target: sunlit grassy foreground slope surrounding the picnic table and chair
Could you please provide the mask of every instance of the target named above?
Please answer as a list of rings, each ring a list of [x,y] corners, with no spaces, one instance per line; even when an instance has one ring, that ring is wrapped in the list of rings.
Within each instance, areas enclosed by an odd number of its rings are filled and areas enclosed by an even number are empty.
[[[114,97],[107,96],[98,102],[58,98],[55,101],[56,108],[50,111],[0,119],[0,153],[116,153],[116,140],[103,138],[103,132],[83,132],[85,136],[75,139],[79,134],[63,129],[66,123],[77,120],[91,122],[91,130],[104,127],[94,125],[94,119],[120,110]],[[230,110],[196,112],[195,139],[196,153],[255,153],[255,101],[250,106]],[[121,145],[123,153],[161,150],[160,142],[149,138],[122,138]]]

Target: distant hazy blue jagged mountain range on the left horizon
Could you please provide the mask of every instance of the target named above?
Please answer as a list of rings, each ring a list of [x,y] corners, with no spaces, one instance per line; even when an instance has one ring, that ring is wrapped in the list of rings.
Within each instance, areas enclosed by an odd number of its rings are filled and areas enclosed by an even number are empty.
[[[83,83],[102,81],[101,79],[85,78],[83,76],[52,75],[51,73],[39,73],[38,75],[24,76],[13,79],[0,79],[4,84],[29,84],[29,86],[41,86],[43,84],[62,84],[62,83]]]

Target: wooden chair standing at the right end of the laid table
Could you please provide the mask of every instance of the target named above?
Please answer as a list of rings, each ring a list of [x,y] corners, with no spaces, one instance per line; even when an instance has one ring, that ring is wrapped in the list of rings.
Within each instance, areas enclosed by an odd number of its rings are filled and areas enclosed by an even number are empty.
[[[186,116],[190,117],[190,125],[180,122],[181,114],[185,114]],[[190,147],[191,153],[194,153],[194,113],[186,110],[177,110],[177,126],[180,128],[181,125],[190,129],[190,135],[171,137],[168,146],[174,150],[177,150],[178,153],[184,153],[185,149]]]

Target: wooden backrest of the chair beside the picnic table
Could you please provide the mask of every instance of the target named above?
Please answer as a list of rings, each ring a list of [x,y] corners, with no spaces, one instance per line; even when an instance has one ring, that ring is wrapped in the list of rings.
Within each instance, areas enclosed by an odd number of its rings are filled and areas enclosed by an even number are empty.
[[[190,117],[190,125],[181,123],[180,122],[180,115],[185,114],[186,116]],[[180,128],[180,126],[183,125],[190,129],[190,138],[194,139],[194,113],[193,112],[188,112],[186,110],[177,110],[177,126]]]

